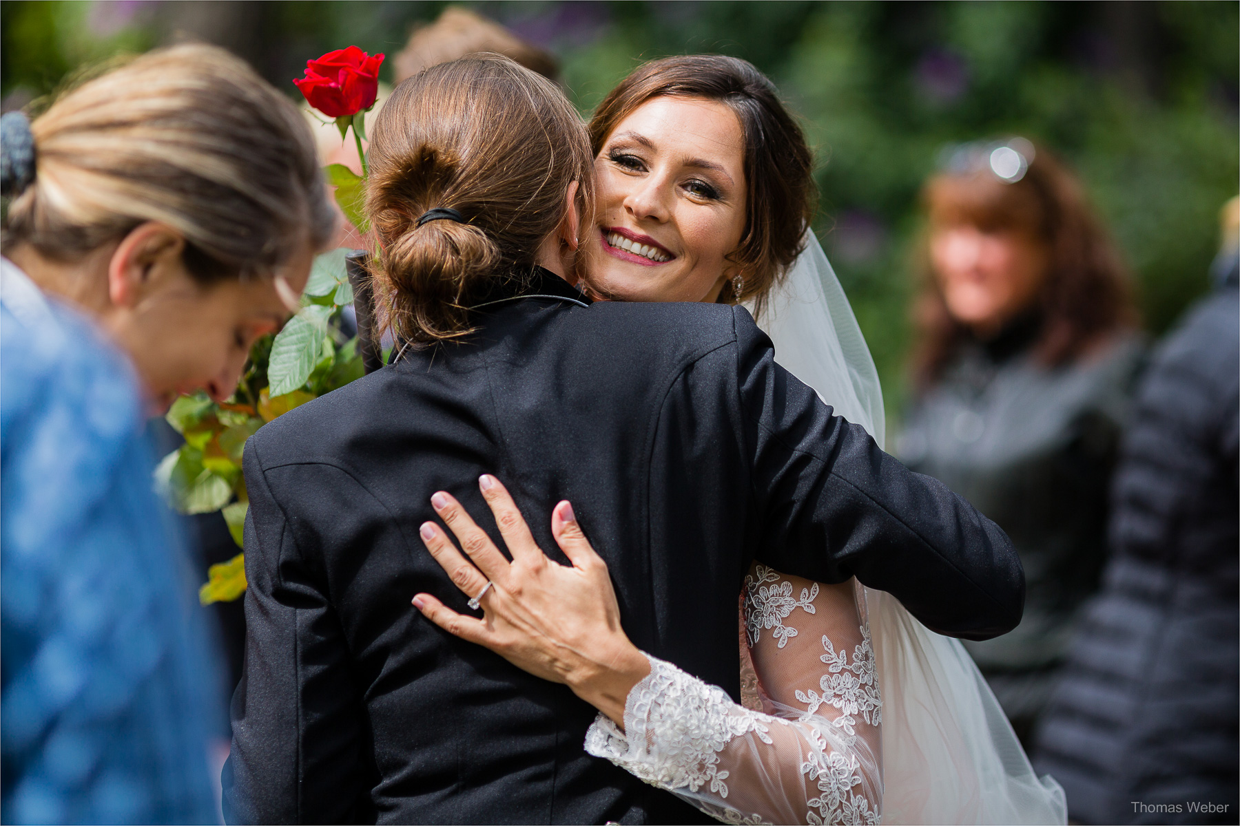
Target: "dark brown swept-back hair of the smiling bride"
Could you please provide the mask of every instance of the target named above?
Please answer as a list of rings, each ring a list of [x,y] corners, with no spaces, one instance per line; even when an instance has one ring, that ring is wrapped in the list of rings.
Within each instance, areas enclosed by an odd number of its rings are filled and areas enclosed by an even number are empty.
[[[625,118],[652,98],[706,98],[725,104],[745,139],[749,203],[740,244],[728,260],[744,280],[740,301],[766,293],[805,248],[817,207],[813,154],[805,133],[753,63],[722,54],[687,54],[642,63],[613,89],[590,119],[594,155]],[[723,300],[732,301],[730,289]]]

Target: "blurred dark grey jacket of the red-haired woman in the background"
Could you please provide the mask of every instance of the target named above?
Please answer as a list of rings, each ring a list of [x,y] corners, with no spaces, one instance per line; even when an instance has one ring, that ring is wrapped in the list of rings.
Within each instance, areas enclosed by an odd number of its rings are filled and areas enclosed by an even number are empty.
[[[1123,334],[1048,368],[1033,352],[1039,334],[1038,318],[1025,317],[991,342],[965,344],[898,442],[901,461],[968,499],[1021,554],[1021,625],[966,648],[1022,734],[1099,586],[1107,490],[1142,354],[1140,339]]]

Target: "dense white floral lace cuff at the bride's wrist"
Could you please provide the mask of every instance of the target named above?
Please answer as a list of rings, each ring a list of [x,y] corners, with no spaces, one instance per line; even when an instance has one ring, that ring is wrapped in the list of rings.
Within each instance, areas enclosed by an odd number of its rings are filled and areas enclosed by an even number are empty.
[[[585,734],[585,750],[661,789],[708,786],[727,798],[729,773],[719,769],[719,752],[750,732],[770,743],[766,726],[756,712],[733,703],[723,689],[663,660],[647,659],[650,675],[625,702],[625,731],[599,715]]]

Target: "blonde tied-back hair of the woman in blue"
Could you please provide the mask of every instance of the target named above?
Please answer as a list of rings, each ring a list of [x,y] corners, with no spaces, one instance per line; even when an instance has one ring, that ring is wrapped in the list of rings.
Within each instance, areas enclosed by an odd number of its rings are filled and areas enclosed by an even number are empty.
[[[211,282],[270,275],[335,227],[296,107],[221,48],[149,52],[61,97],[31,134],[35,180],[9,207],[6,245],[73,260],[161,222]]]

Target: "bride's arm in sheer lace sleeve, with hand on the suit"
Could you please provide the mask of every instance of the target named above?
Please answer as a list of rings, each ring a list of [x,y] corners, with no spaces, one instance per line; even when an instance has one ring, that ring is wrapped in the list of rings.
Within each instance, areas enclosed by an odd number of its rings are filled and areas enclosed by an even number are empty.
[[[533,544],[502,485],[491,480],[484,497],[511,565],[446,495],[433,504],[482,572],[438,529],[423,539],[465,593],[477,594],[490,578],[485,619],[429,594],[414,603],[446,630],[568,684],[603,711],[587,737],[590,753],[728,822],[877,821],[878,685],[851,586],[750,572],[746,627],[765,701],[758,712],[629,641],[606,565],[563,519],[565,503],[552,529],[573,567]]]

